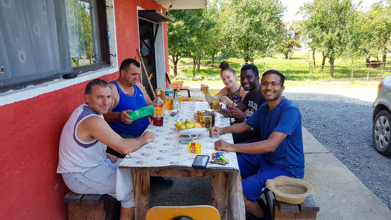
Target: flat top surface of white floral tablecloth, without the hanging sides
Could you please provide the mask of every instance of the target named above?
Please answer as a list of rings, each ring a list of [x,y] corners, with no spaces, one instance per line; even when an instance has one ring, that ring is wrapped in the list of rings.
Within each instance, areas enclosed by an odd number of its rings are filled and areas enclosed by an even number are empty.
[[[196,110],[209,109],[207,102],[182,102],[182,119],[194,118]],[[176,110],[174,110],[176,112]],[[163,126],[153,126],[153,123],[147,128],[147,131],[155,134],[155,139],[141,147],[135,152],[128,154],[121,162],[119,167],[128,168],[158,168],[169,166],[187,166],[191,167],[193,160],[197,154],[188,152],[188,145],[181,144],[181,136],[175,128],[177,116],[171,116],[173,110],[166,110],[163,119]],[[180,113],[178,114],[180,118]],[[217,113],[215,125],[218,127],[229,126],[229,118]],[[183,137],[183,136],[182,136]],[[209,137],[209,133],[205,132],[198,135],[194,142],[201,144],[201,153],[199,155],[209,155],[212,159],[212,153],[217,152],[214,143],[218,139],[223,139],[233,143],[232,134],[222,134],[219,137]],[[239,170],[238,161],[234,152],[226,152],[224,157],[229,161],[225,166],[208,163],[208,167],[217,167],[233,170]]]

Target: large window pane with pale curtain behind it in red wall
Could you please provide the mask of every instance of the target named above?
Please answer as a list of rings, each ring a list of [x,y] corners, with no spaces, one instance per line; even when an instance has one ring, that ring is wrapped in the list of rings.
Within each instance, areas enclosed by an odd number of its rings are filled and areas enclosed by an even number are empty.
[[[102,62],[96,0],[0,0],[0,88]]]

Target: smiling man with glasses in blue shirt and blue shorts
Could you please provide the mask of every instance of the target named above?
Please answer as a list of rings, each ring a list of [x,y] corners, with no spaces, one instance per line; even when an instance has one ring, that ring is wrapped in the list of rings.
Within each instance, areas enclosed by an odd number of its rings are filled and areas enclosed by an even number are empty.
[[[262,218],[256,201],[268,191],[266,180],[276,176],[304,177],[302,115],[295,104],[282,96],[285,77],[276,70],[262,74],[261,94],[266,103],[245,122],[225,128],[213,127],[213,132],[239,133],[254,127],[261,129],[261,141],[248,144],[215,142],[218,151],[243,153],[238,155],[246,211]]]

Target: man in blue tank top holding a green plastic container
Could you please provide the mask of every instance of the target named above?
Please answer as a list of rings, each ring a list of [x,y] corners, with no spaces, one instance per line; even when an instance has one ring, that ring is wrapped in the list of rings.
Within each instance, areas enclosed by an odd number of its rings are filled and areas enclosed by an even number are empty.
[[[140,64],[134,59],[126,59],[121,63],[118,79],[110,82],[112,102],[108,113],[103,116],[111,129],[123,138],[139,137],[150,125],[148,116],[132,121],[127,114],[132,110],[152,105],[152,100],[144,86],[137,81],[139,73]],[[112,149],[108,152],[120,158],[126,155]],[[164,185],[173,184],[172,179],[163,177],[153,177],[152,181]]]

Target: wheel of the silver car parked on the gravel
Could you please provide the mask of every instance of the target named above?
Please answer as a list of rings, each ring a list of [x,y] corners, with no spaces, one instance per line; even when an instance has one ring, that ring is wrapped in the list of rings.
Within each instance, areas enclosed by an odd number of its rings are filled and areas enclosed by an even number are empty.
[[[372,140],[377,152],[391,155],[391,114],[381,110],[376,114],[372,127]]]

